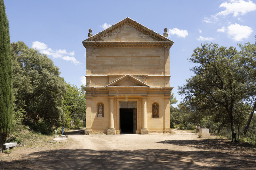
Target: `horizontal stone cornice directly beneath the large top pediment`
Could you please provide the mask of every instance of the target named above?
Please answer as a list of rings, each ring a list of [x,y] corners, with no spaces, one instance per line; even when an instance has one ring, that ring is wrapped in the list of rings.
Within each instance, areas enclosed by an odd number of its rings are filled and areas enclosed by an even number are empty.
[[[124,42],[124,41],[83,41],[84,47],[172,47],[171,41],[157,42]]]

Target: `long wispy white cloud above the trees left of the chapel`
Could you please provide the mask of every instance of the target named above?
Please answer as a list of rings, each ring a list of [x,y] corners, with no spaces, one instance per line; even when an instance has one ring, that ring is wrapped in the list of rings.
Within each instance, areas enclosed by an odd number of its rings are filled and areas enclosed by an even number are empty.
[[[47,47],[48,46],[43,42],[39,42],[39,41],[32,42],[32,48],[39,49],[41,53],[44,53],[46,55],[52,55],[53,58],[62,58],[63,60],[71,61],[71,63],[74,63],[76,65],[80,63],[74,57],[75,51],[69,52],[66,49],[53,50],[52,48],[47,48]],[[64,56],[64,55],[67,55],[67,56]],[[71,57],[68,55],[71,55]]]

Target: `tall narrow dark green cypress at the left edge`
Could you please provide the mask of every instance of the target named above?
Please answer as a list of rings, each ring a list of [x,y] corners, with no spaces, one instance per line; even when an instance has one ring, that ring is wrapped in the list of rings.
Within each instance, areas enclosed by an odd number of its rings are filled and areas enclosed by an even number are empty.
[[[12,63],[9,22],[0,0],[0,152],[12,128]]]

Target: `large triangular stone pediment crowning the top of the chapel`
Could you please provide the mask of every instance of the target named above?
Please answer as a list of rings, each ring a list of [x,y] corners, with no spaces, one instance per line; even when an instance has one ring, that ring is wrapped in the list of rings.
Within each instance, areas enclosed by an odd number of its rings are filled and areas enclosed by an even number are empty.
[[[94,36],[84,40],[98,42],[173,42],[168,38],[150,30],[140,23],[125,18],[115,25],[95,34]]]

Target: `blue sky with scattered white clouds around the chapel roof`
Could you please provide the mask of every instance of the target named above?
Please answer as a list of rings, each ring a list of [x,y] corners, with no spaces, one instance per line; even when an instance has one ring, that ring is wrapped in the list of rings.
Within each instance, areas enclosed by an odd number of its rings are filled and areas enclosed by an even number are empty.
[[[88,29],[101,32],[129,17],[174,41],[170,49],[170,84],[178,103],[178,85],[193,74],[188,58],[201,43],[234,46],[254,42],[256,0],[152,1],[152,0],[5,0],[11,42],[46,53],[73,85],[84,83]]]

